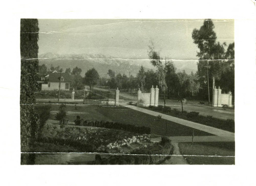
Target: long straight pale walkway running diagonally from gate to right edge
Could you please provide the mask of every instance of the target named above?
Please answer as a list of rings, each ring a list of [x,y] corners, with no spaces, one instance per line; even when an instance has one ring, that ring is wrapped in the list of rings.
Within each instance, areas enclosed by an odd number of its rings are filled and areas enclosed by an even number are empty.
[[[180,118],[172,117],[170,115],[166,115],[166,114],[163,114],[163,113],[155,112],[155,111],[148,110],[148,109],[145,109],[145,108],[131,106],[131,105],[128,105],[126,103],[119,103],[119,105],[125,106],[125,107],[129,107],[129,108],[131,108],[133,110],[137,110],[139,112],[143,112],[143,113],[147,113],[147,114],[150,114],[150,115],[154,115],[155,117],[157,117],[158,115],[161,115],[162,119],[164,119],[164,120],[175,122],[175,123],[187,126],[187,127],[191,127],[191,128],[197,129],[197,130],[208,132],[210,134],[214,134],[214,135],[217,135],[217,136],[220,136],[220,137],[227,138],[230,141],[234,141],[234,133],[233,132],[221,130],[221,129],[214,128],[214,127],[209,127],[209,126],[206,126],[206,125],[202,125],[202,124],[191,122],[191,121],[187,121],[187,120],[183,120],[183,119],[180,119]]]

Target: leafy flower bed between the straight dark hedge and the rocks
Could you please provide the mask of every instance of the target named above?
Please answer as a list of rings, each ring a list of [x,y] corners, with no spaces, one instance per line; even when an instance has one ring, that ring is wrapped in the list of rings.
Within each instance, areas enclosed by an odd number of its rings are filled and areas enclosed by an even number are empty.
[[[136,133],[137,134],[137,133]],[[101,145],[132,137],[134,133],[96,127],[75,127],[46,124],[38,142],[68,145],[86,152],[95,152]]]

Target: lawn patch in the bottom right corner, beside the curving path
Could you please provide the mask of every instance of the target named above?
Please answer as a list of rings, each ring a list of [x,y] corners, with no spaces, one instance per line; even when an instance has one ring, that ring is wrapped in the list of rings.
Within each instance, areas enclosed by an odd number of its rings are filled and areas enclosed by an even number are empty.
[[[234,142],[179,143],[179,148],[192,165],[234,165],[234,157],[222,157],[234,156]]]

